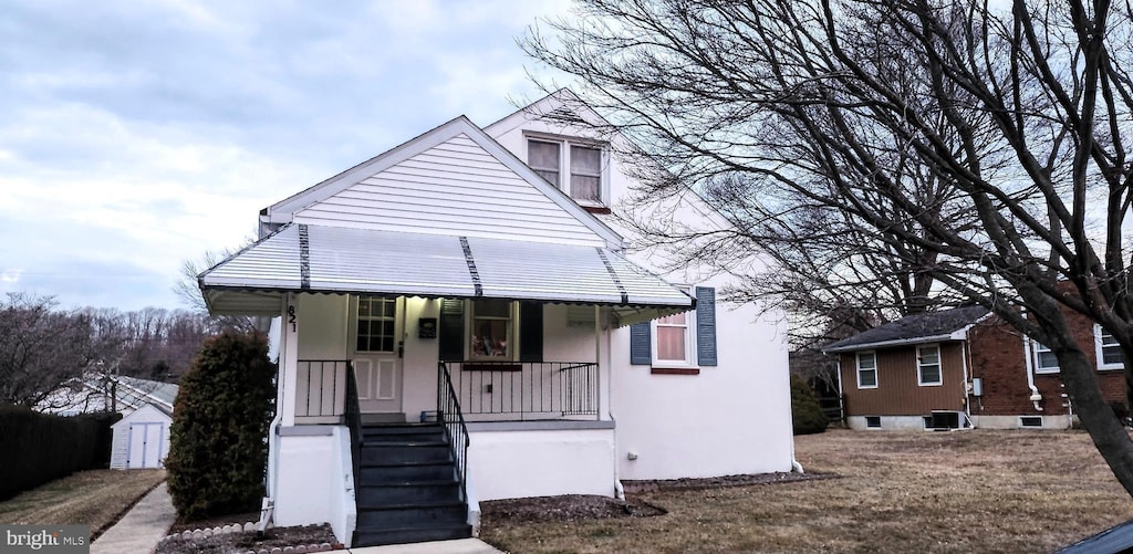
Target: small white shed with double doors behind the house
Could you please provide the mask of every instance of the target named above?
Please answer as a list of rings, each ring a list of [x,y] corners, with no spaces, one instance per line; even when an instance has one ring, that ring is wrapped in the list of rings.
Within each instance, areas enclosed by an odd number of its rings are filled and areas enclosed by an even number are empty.
[[[111,425],[111,469],[164,467],[172,423],[169,414],[147,403]]]

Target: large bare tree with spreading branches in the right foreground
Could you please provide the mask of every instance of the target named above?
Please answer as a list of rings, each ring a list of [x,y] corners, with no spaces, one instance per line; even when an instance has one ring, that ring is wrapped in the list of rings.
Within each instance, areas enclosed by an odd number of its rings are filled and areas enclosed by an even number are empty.
[[[526,48],[577,76],[585,100],[659,160],[666,171],[638,164],[642,199],[691,184],[736,222],[659,240],[688,239],[687,255],[722,266],[721,253],[759,252],[787,274],[782,265],[813,252],[793,266],[798,285],[832,298],[908,272],[935,283],[918,301],[944,293],[993,309],[1055,352],[1082,424],[1133,494],[1133,442],[1102,399],[1093,344],[1066,317],[1091,317],[1133,360],[1133,7],[1006,8],[589,0]],[[853,255],[824,250],[840,240]]]

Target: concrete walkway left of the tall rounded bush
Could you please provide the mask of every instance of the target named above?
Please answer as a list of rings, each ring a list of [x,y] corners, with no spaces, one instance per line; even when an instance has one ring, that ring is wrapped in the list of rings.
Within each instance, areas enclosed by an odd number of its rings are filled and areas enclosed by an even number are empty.
[[[165,484],[157,485],[91,544],[91,554],[150,554],[177,519]]]

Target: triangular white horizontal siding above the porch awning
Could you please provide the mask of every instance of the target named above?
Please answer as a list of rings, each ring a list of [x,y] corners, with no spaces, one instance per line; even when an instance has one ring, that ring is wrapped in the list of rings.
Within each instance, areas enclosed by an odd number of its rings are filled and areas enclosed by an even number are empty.
[[[384,231],[605,244],[465,134],[296,212],[295,221]]]

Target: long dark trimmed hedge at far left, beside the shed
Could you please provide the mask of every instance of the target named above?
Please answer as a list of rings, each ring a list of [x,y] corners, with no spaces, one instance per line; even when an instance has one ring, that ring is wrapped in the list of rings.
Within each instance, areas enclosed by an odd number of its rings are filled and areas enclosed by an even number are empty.
[[[0,406],[0,500],[75,471],[110,467],[110,425],[121,417],[60,417]]]

